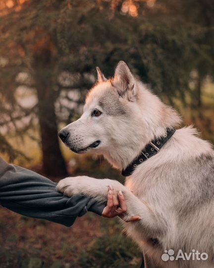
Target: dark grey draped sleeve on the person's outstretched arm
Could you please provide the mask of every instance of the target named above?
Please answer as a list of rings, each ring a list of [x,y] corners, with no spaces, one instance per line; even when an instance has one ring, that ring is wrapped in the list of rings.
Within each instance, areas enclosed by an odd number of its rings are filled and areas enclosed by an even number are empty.
[[[0,204],[19,214],[71,226],[87,211],[102,214],[104,203],[87,196],[63,196],[56,183],[0,158]]]

